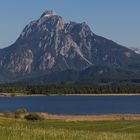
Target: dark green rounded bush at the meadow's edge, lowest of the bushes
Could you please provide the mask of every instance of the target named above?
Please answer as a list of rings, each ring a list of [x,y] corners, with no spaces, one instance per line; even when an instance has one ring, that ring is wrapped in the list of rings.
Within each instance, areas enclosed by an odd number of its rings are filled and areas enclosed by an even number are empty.
[[[29,113],[29,114],[26,115],[24,118],[25,118],[26,120],[28,120],[28,121],[43,120],[43,118],[42,118],[40,115],[36,114],[36,113]]]

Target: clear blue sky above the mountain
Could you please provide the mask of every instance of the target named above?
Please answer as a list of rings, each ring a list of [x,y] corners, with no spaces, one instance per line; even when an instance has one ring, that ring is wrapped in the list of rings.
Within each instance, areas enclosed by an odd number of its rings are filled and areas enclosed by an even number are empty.
[[[0,48],[47,9],[65,21],[86,21],[94,33],[124,46],[140,47],[140,0],[0,0]]]

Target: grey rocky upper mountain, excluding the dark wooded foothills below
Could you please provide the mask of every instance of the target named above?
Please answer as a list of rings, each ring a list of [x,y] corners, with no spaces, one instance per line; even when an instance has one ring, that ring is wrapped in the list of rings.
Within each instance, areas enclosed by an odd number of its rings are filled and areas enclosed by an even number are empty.
[[[65,23],[54,11],[45,11],[14,44],[0,50],[0,70],[20,76],[83,71],[96,65],[133,69],[139,60],[140,55],[97,36],[85,22]]]

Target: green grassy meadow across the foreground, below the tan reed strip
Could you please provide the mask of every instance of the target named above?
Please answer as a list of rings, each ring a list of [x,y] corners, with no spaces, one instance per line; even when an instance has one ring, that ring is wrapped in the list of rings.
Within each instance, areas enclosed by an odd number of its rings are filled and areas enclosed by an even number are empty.
[[[0,118],[0,140],[140,140],[140,121],[27,122]]]

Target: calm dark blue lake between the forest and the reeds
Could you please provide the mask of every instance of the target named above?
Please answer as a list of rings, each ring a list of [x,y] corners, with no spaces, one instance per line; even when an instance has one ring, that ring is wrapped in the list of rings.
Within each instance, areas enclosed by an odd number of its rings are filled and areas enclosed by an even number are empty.
[[[0,111],[51,114],[140,114],[140,96],[0,97]]]

